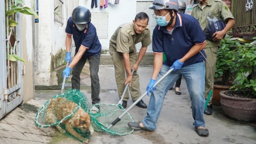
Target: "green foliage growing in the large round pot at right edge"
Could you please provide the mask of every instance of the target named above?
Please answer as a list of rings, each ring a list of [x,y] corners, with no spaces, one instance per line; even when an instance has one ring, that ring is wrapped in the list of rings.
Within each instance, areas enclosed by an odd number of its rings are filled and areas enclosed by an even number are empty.
[[[256,37],[253,38],[256,40]],[[237,74],[235,76],[234,86],[236,90],[243,90],[247,98],[256,98],[256,45],[249,43],[239,45],[235,50],[237,54]],[[250,78],[246,76],[250,74]]]

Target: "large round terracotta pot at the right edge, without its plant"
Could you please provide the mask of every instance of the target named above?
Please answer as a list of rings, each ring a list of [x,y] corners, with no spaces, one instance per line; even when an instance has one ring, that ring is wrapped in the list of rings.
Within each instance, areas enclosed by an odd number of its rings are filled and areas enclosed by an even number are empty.
[[[256,122],[256,99],[235,98],[224,94],[232,91],[234,90],[220,92],[223,112],[236,121]]]

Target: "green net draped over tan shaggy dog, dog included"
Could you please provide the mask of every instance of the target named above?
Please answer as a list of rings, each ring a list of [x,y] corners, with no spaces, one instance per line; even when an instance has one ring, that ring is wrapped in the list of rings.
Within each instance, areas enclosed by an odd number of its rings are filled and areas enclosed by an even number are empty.
[[[55,126],[68,137],[87,143],[93,133],[87,106],[87,98],[82,92],[67,90],[45,102],[36,115],[35,124],[38,127]]]

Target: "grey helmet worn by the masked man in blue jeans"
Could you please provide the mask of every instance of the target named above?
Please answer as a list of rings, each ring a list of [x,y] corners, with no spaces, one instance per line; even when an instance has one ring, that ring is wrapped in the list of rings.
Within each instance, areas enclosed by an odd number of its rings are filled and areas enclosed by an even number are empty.
[[[153,10],[162,10],[162,9],[170,9],[170,10],[179,10],[179,2],[178,0],[154,0],[153,4],[149,6],[149,9]]]

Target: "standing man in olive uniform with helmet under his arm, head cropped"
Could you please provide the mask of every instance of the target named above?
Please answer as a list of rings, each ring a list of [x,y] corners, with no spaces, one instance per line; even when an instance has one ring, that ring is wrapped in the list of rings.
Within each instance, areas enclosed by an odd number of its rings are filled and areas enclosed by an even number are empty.
[[[191,15],[195,17],[201,28],[204,30],[207,27],[206,17],[212,16],[222,19],[226,22],[226,26],[223,30],[217,31],[213,34],[213,42],[206,40],[205,54],[207,56],[207,61],[209,61],[210,66],[205,63],[205,100],[207,99],[210,91],[213,89],[213,79],[215,74],[215,63],[217,59],[217,52],[220,47],[220,42],[222,37],[234,26],[235,19],[231,14],[228,6],[225,2],[221,0],[199,0],[199,4],[194,7]],[[212,70],[212,75],[211,75]],[[212,96],[210,101],[204,111],[204,114],[212,114]]]

